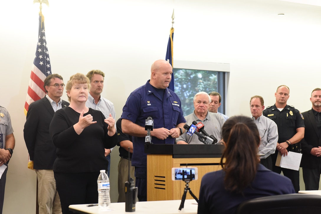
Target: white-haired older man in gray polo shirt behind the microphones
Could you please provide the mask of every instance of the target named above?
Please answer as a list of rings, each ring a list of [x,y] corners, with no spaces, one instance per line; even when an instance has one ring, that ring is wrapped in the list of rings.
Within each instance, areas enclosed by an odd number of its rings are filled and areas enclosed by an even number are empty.
[[[223,126],[224,118],[219,114],[213,114],[208,112],[208,108],[211,103],[211,97],[204,91],[198,92],[194,96],[194,112],[185,117],[186,123],[191,125],[193,121],[197,123],[202,122],[204,124],[204,130],[213,135],[218,142],[221,141],[221,128]],[[203,144],[198,140],[198,136],[193,134],[192,136],[186,133],[179,136],[176,140],[177,144]]]

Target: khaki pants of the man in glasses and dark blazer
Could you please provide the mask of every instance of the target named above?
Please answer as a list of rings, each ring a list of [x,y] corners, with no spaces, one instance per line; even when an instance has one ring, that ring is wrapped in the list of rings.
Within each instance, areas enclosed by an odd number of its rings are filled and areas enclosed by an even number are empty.
[[[38,179],[39,214],[62,214],[54,172],[52,170],[36,169],[36,173]]]

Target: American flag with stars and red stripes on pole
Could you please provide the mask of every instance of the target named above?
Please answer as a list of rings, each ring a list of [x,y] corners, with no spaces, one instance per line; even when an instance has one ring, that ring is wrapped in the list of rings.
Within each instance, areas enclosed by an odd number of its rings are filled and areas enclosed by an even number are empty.
[[[39,13],[39,32],[38,44],[31,68],[30,81],[26,103],[24,104],[24,114],[27,115],[29,105],[46,96],[43,88],[44,80],[51,74],[50,58],[45,35],[45,18]]]

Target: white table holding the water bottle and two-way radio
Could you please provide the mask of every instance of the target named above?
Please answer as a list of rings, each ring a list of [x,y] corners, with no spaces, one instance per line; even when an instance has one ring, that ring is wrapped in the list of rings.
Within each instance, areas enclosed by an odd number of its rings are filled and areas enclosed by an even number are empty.
[[[173,201],[138,201],[136,202],[136,214],[197,214],[197,202],[194,199],[185,200],[184,208],[178,210],[181,200]],[[125,202],[111,203],[110,211],[102,211],[98,206],[87,207],[88,204],[74,204],[69,206],[69,210],[76,213],[89,214],[128,214],[125,212]]]

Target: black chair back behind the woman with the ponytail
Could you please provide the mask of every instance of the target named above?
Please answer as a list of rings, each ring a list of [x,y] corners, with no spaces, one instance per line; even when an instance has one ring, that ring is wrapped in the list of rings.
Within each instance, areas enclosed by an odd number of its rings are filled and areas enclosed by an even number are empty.
[[[237,214],[320,213],[321,195],[286,194],[255,198],[242,202]]]

